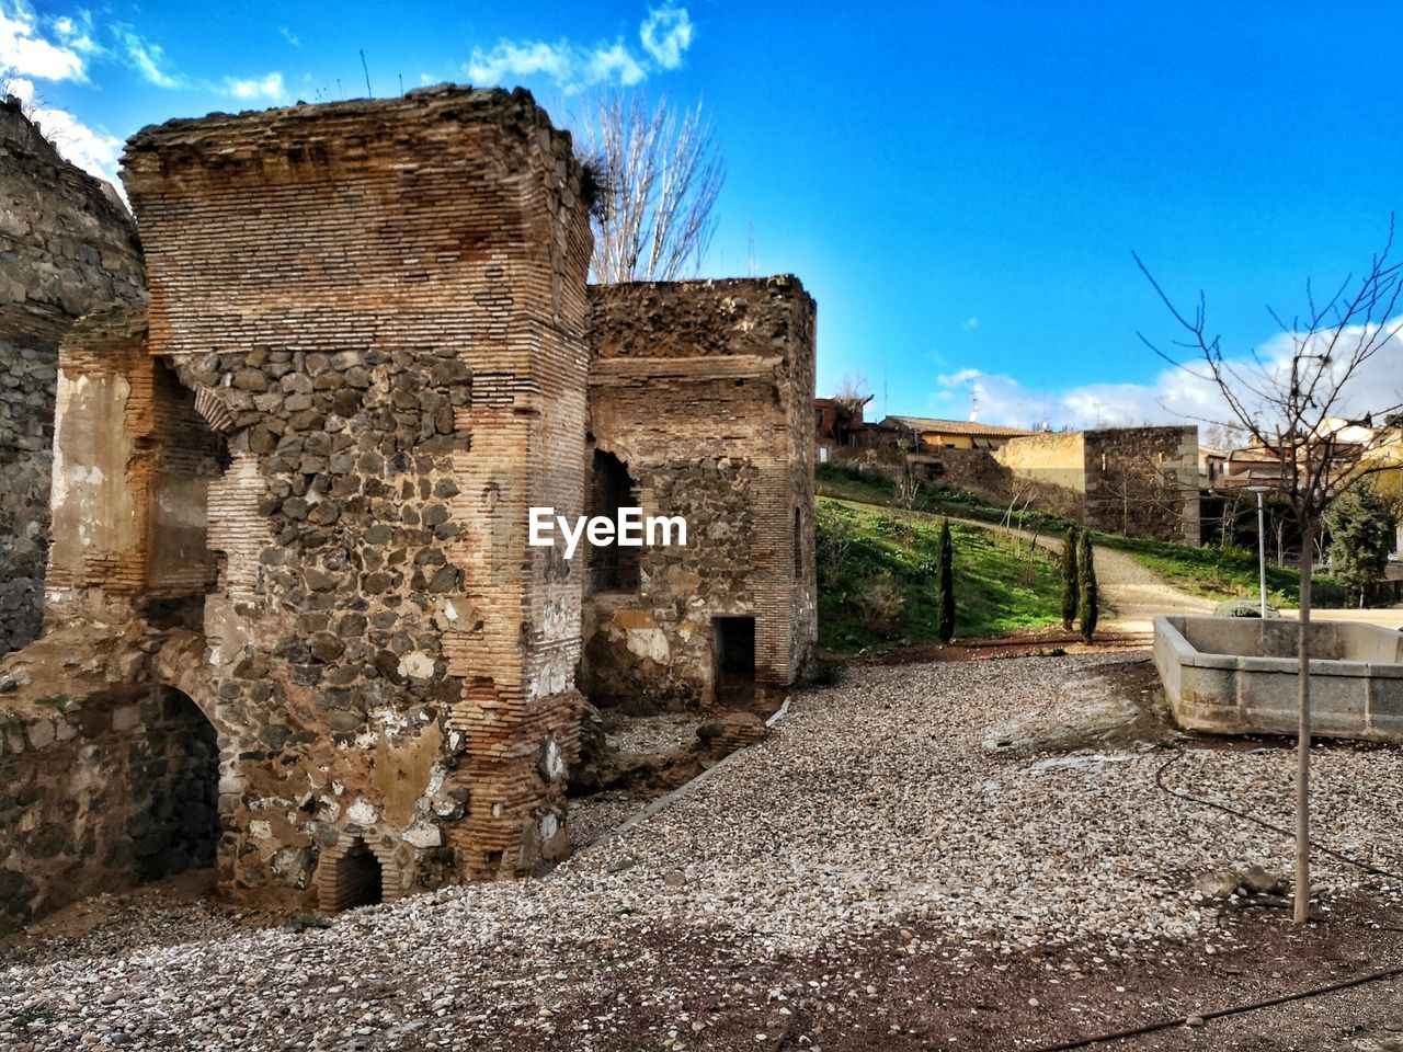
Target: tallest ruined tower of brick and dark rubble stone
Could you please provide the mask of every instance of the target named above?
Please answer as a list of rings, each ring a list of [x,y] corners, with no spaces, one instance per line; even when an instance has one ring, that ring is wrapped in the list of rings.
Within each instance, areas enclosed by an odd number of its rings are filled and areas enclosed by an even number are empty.
[[[564,854],[584,575],[526,509],[584,502],[570,137],[525,93],[441,88],[170,122],[123,178],[150,352],[229,450],[222,884],[334,898],[358,843],[384,898]]]

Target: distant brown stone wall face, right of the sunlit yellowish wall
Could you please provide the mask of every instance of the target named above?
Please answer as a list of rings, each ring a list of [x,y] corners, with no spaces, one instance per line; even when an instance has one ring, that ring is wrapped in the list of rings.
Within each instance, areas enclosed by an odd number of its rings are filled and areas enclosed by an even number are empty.
[[[1200,543],[1198,428],[1086,433],[1085,520],[1129,537]]]

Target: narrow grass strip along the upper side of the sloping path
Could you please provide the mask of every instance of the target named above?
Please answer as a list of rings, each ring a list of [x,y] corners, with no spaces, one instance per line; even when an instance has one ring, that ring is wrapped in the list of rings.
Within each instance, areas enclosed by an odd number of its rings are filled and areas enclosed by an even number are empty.
[[[895,483],[875,471],[857,471],[838,464],[821,464],[815,473],[818,492],[840,497],[849,501],[887,505],[895,492]],[[954,490],[922,490],[916,508],[925,512],[978,519],[981,522],[1002,522],[1007,509]],[[1045,512],[1027,512],[1014,525],[1040,533],[1061,534],[1068,522]],[[1127,555],[1149,567],[1177,588],[1208,599],[1251,598],[1257,595],[1257,553],[1244,548],[1209,546],[1195,548],[1187,544],[1173,544],[1159,540],[1135,540],[1118,533],[1093,532],[1093,540],[1101,547],[1124,551]],[[1299,599],[1301,574],[1282,567],[1267,567],[1267,589],[1270,602],[1275,606],[1295,606]],[[1345,599],[1344,589],[1329,576],[1316,574],[1313,599],[1316,606],[1340,606]]]

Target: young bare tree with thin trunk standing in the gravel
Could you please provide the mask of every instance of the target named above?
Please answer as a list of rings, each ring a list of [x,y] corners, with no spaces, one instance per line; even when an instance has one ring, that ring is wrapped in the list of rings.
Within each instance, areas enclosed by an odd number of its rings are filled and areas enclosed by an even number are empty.
[[[1289,323],[1271,311],[1287,335],[1291,353],[1266,359],[1253,352],[1229,358],[1219,337],[1211,335],[1202,293],[1193,314],[1174,306],[1141,258],[1135,264],[1179,323],[1184,338],[1166,352],[1141,337],[1156,353],[1216,387],[1230,414],[1209,421],[1246,432],[1273,456],[1278,477],[1268,484],[1280,492],[1302,536],[1301,616],[1298,630],[1299,728],[1296,742],[1296,858],[1295,920],[1305,923],[1310,908],[1310,574],[1316,534],[1334,501],[1358,478],[1390,467],[1376,456],[1379,442],[1397,442],[1396,432],[1374,431],[1375,438],[1345,440],[1337,421],[1347,400],[1358,394],[1365,366],[1403,328],[1396,317],[1403,295],[1403,264],[1392,262],[1393,223],[1383,250],[1372,257],[1362,278],[1347,276],[1336,292],[1317,299],[1306,283],[1306,311]],[[1396,345],[1395,345],[1396,346]],[[1357,422],[1385,419],[1397,410],[1397,391],[1376,391],[1382,404]],[[1351,421],[1354,422],[1354,421]]]

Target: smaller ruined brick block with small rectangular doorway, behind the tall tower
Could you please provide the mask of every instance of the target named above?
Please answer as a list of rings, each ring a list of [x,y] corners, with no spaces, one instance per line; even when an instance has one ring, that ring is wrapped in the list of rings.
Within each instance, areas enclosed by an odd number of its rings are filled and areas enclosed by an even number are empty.
[[[758,685],[793,682],[817,633],[814,302],[786,276],[602,286],[591,303],[593,446],[644,515],[686,519],[687,546],[644,547],[636,584],[591,596],[586,693],[717,700],[718,619],[753,619]]]

